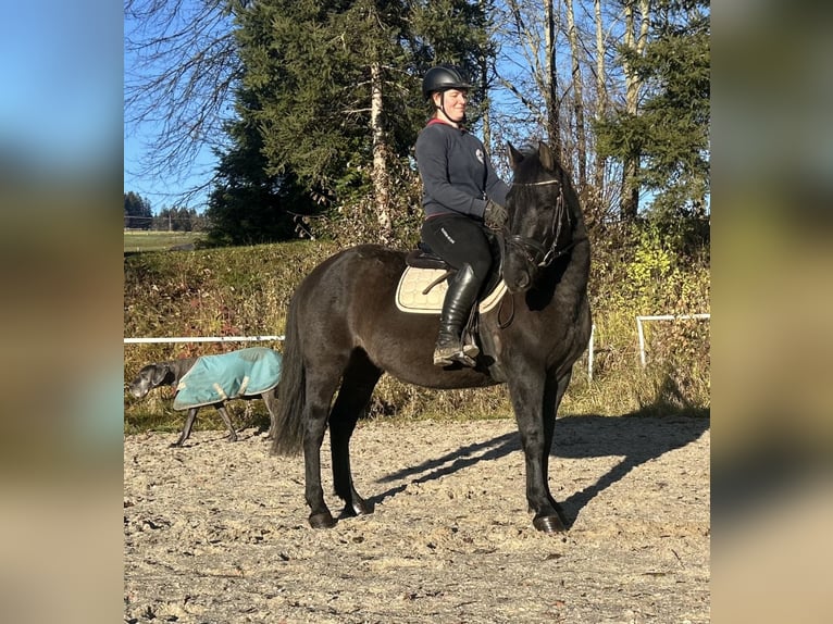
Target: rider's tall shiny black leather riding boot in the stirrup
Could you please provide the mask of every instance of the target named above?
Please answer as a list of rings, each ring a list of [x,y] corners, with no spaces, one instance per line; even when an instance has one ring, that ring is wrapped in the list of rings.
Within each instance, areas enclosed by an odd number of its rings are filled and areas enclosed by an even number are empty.
[[[443,300],[443,312],[439,315],[437,345],[434,348],[434,364],[437,366],[447,366],[453,362],[474,365],[469,355],[474,357],[477,353],[463,352],[460,334],[469,320],[472,305],[477,300],[481,284],[469,264],[464,264],[448,285],[446,298]]]

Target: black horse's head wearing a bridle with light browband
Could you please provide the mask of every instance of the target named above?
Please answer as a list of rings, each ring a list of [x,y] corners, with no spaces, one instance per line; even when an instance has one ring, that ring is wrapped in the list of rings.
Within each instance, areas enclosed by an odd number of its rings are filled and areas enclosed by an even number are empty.
[[[511,292],[519,292],[573,247],[581,209],[572,205],[577,202],[575,191],[546,143],[529,152],[510,143],[509,163],[514,177],[507,196],[503,280]]]

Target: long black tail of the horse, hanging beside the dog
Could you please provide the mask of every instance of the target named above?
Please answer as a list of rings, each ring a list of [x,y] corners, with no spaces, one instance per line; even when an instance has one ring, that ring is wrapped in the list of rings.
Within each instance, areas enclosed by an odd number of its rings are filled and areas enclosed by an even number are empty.
[[[283,369],[277,384],[277,415],[272,432],[273,454],[298,454],[303,447],[302,415],[307,375],[298,325],[297,301],[294,298],[284,332]]]

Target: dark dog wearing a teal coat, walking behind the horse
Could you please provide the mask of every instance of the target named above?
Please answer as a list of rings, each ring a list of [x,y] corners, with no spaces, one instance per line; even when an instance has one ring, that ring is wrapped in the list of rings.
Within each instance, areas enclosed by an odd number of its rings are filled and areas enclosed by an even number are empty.
[[[281,354],[264,347],[252,347],[219,355],[181,358],[144,366],[127,385],[129,394],[145,398],[160,386],[174,386],[174,409],[188,410],[179,439],[171,447],[182,447],[191,434],[197,412],[212,405],[228,427],[228,441],[237,441],[237,432],[228,417],[225,401],[262,398],[269,410],[270,436],[277,413],[277,383],[281,377]]]

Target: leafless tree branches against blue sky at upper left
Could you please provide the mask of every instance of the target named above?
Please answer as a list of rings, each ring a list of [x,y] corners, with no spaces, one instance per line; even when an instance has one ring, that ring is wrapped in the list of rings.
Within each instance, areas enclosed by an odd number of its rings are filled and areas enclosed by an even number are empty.
[[[182,183],[224,143],[240,77],[233,21],[247,0],[125,0],[124,122],[149,137],[137,175]],[[210,186],[207,179],[183,199]]]

